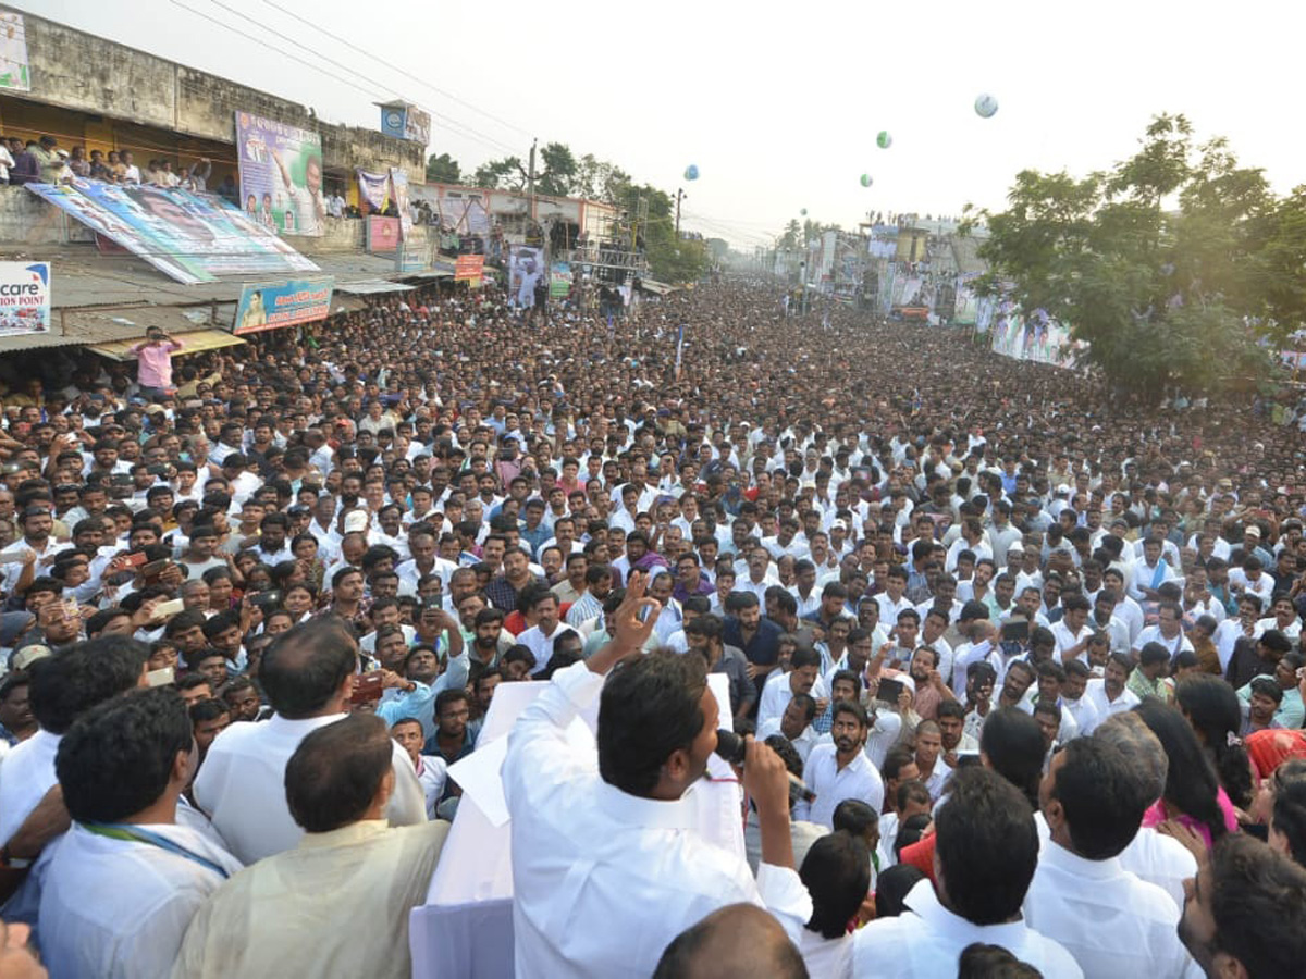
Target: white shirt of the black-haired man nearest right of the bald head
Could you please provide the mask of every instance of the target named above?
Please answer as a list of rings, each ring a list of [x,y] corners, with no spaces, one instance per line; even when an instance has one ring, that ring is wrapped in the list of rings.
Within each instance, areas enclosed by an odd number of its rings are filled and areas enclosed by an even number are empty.
[[[853,975],[858,979],[939,979],[957,974],[961,950],[973,942],[1000,945],[1045,979],[1080,979],[1084,972],[1071,954],[1024,922],[972,924],[934,895],[934,885],[918,881],[904,899],[908,911],[875,920],[853,940]],[[1121,978],[1123,979],[1123,976]]]

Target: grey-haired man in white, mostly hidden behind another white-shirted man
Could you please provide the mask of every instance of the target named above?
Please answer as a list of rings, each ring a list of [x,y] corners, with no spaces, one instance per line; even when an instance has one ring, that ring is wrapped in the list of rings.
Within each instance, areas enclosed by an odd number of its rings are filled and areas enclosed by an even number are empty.
[[[1152,799],[1161,798],[1169,773],[1169,760],[1161,741],[1138,714],[1134,711],[1113,714],[1097,726],[1093,738],[1119,748],[1139,783],[1145,786],[1147,795]],[[1149,826],[1139,829],[1134,842],[1121,852],[1119,862],[1126,871],[1132,871],[1165,890],[1182,911],[1183,881],[1196,875],[1198,862],[1187,846],[1170,835],[1170,830],[1171,826],[1166,822],[1157,829]],[[1186,830],[1179,826],[1174,831]]]

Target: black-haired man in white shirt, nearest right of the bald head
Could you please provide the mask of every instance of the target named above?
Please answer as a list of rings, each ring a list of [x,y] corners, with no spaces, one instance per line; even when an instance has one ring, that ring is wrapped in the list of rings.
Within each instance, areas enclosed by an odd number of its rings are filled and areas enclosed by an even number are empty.
[[[1083,976],[1066,949],[1020,918],[1038,860],[1038,833],[1025,796],[995,771],[963,770],[934,826],[938,894],[922,880],[908,892],[906,911],[859,929],[853,975],[956,975],[963,949],[978,941],[1007,949],[1045,976]]]

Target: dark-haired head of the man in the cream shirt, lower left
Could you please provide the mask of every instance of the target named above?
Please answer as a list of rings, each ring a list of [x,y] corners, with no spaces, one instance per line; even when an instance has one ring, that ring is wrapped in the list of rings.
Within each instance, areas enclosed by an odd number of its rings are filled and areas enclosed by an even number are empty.
[[[393,788],[393,751],[375,714],[350,714],[312,731],[286,762],[295,822],[306,833],[329,833],[374,811],[379,817]]]

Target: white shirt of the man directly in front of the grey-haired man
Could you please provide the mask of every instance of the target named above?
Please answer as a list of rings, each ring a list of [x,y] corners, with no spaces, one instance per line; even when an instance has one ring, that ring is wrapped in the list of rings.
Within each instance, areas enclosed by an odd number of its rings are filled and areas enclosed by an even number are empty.
[[[1085,860],[1043,842],[1023,911],[1030,928],[1075,957],[1085,979],[1178,979],[1194,966],[1174,902],[1118,858]]]

